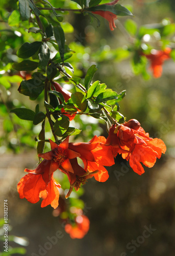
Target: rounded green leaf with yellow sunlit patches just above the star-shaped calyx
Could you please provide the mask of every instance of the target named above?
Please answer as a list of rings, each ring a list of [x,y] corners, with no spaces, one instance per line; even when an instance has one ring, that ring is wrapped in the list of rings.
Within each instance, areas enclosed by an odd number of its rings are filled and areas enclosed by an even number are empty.
[[[61,137],[69,127],[69,118],[67,116],[62,115],[58,118],[54,124],[54,133]]]

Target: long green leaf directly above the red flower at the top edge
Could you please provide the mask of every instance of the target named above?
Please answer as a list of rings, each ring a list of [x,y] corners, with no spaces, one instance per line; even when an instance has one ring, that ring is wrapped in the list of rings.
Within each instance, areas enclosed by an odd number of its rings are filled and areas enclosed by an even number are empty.
[[[109,11],[118,16],[133,16],[133,14],[122,5],[98,5],[87,9],[88,11]]]

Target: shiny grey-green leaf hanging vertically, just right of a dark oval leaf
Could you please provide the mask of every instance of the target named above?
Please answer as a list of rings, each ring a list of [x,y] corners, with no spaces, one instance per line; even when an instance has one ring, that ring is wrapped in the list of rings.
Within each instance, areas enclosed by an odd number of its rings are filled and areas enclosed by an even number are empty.
[[[47,63],[50,58],[50,49],[45,42],[43,42],[43,44],[41,45],[38,56],[39,56],[38,68],[44,69],[47,66]]]

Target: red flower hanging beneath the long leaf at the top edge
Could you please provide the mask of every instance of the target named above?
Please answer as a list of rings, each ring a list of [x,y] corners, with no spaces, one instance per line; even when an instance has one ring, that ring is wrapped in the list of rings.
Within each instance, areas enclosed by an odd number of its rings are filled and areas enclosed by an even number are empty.
[[[119,0],[115,0],[111,3],[105,4],[105,5],[115,5]],[[99,5],[100,6],[100,5]],[[97,14],[102,16],[103,18],[107,19],[109,22],[109,28],[110,30],[114,30],[116,28],[114,20],[117,19],[117,15],[110,12],[110,11],[102,11],[102,10],[97,10],[97,11],[92,11],[92,13]]]

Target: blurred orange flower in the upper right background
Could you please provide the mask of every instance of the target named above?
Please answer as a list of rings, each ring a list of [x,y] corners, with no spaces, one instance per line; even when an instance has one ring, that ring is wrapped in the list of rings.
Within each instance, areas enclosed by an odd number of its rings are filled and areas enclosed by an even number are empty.
[[[151,51],[151,54],[143,54],[147,59],[151,60],[151,69],[153,70],[154,77],[158,78],[162,75],[162,65],[166,59],[170,58],[170,48],[165,48],[164,50]]]

